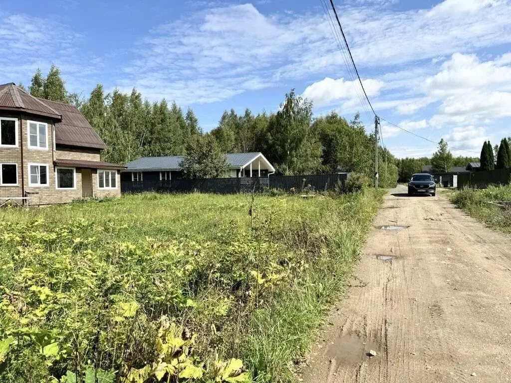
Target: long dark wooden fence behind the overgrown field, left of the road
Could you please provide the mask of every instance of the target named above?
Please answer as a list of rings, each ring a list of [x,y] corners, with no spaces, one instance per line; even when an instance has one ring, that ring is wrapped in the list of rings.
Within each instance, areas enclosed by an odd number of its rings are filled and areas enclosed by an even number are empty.
[[[122,181],[121,193],[261,193],[269,189],[303,193],[308,190],[331,190],[337,185],[344,188],[347,173],[310,176],[269,176],[243,178],[177,179],[169,181]]]

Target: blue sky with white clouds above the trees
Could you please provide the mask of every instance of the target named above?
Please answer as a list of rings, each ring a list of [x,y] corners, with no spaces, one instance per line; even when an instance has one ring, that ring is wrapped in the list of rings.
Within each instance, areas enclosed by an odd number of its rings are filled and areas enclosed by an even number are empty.
[[[511,0],[334,3],[379,116],[455,155],[511,135]],[[373,129],[335,31],[321,0],[2,0],[0,83],[55,63],[82,97],[135,87],[192,107],[205,131],[225,109],[276,111],[295,89],[315,116],[360,112]],[[436,149],[385,121],[382,134],[398,157]]]

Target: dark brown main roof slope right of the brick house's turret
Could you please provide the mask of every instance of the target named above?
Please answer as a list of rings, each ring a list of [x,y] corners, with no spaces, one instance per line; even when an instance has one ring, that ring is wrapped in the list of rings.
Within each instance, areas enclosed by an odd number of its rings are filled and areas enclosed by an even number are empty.
[[[103,140],[76,107],[49,100],[44,102],[62,115],[62,122],[55,124],[57,145],[106,149]]]

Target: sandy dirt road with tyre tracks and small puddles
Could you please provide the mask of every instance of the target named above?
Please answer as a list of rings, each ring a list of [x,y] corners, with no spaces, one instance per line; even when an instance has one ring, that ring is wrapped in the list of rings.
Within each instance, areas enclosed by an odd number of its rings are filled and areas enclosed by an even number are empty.
[[[391,193],[375,225],[405,228],[370,232],[301,379],[511,381],[511,241],[441,195]]]

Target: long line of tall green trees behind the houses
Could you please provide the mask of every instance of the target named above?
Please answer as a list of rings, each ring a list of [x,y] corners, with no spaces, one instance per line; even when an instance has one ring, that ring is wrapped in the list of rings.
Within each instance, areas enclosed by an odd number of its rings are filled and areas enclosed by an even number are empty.
[[[185,163],[205,163],[210,158],[220,169],[223,153],[262,152],[278,174],[357,172],[374,176],[374,134],[367,134],[357,113],[347,121],[335,112],[314,118],[312,103],[294,90],[285,95],[274,113],[237,114],[224,111],[218,126],[205,133],[191,108],[175,102],[144,100],[131,93],[105,92],[98,84],[87,98],[69,93],[60,70],[52,66],[46,77],[34,74],[28,91],[43,99],[75,105],[98,132],[107,149],[102,159],[127,163],[142,156],[184,155]],[[215,158],[214,158],[215,157]],[[379,151],[380,184],[398,179],[398,160],[385,148]],[[218,170],[217,169],[217,170]],[[221,172],[189,169],[190,177],[212,177]]]

